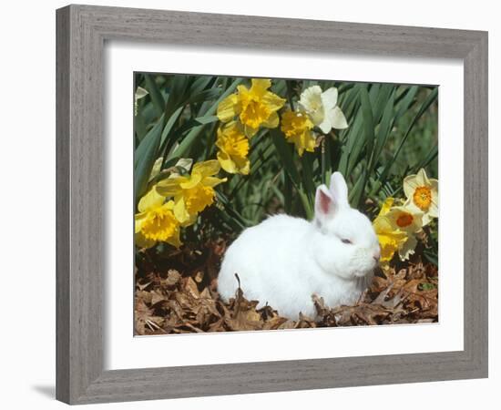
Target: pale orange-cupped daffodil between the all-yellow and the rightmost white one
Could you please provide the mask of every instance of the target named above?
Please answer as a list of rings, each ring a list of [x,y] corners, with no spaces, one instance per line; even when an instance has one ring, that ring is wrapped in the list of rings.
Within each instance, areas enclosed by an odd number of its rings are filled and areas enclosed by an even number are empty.
[[[390,221],[394,231],[407,233],[407,241],[399,247],[398,255],[402,261],[408,260],[417,245],[414,234],[423,228],[423,212],[405,207],[394,207],[388,210],[384,217]]]

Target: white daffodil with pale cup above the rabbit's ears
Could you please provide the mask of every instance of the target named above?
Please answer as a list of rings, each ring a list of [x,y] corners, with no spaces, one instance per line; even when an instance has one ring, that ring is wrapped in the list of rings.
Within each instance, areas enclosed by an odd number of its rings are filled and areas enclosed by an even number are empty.
[[[338,92],[336,87],[322,92],[320,86],[306,88],[299,101],[299,107],[312,120],[313,125],[327,134],[332,128],[348,128],[343,111],[337,106]]]

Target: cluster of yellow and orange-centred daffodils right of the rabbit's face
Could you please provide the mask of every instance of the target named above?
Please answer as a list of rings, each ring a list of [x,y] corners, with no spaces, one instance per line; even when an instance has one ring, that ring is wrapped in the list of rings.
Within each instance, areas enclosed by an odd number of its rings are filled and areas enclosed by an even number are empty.
[[[417,244],[415,234],[433,218],[438,218],[438,180],[428,179],[424,169],[405,177],[404,192],[404,205],[394,206],[394,198],[388,198],[373,220],[383,268],[388,266],[397,251],[402,261],[409,259]]]

